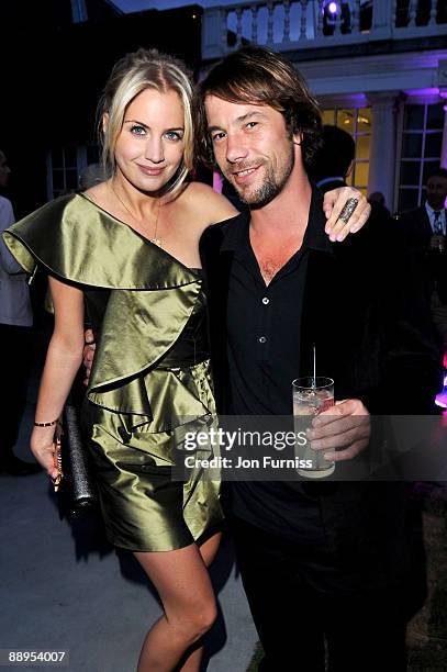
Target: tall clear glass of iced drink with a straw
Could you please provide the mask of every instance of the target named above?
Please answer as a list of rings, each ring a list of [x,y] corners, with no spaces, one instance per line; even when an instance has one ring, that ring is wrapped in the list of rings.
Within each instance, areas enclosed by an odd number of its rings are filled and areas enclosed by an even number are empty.
[[[312,426],[315,415],[334,405],[334,381],[323,376],[297,378],[292,381],[292,394],[295,458],[299,460],[297,471],[308,479],[322,479],[333,473],[335,463],[324,459],[324,450],[311,448],[305,432]]]

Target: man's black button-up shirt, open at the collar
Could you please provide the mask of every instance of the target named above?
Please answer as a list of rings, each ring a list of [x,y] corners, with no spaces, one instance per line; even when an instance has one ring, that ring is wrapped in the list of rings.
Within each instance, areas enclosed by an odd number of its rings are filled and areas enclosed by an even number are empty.
[[[291,415],[292,380],[312,372],[312,361],[300,370],[300,332],[309,254],[332,254],[322,204],[314,190],[303,244],[268,287],[252,249],[248,219],[225,238],[222,250],[234,250],[227,304],[232,414]],[[230,490],[234,515],[306,544],[324,542],[317,500],[302,483],[234,482]]]

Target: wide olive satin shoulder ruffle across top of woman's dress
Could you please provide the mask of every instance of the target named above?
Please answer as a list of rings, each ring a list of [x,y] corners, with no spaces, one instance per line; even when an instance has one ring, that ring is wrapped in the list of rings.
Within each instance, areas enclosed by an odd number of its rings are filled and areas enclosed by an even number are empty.
[[[81,194],[46,203],[10,226],[3,238],[30,275],[41,264],[78,284],[131,290],[174,289],[197,279],[171,255]]]

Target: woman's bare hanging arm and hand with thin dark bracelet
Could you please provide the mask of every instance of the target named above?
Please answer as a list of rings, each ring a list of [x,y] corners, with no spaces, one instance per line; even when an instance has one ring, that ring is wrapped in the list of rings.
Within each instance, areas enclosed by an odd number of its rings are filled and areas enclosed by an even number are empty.
[[[55,324],[38,391],[36,423],[51,423],[63,412],[72,381],[82,361],[83,295],[81,290],[49,278]],[[34,427],[31,450],[53,479],[55,426]]]

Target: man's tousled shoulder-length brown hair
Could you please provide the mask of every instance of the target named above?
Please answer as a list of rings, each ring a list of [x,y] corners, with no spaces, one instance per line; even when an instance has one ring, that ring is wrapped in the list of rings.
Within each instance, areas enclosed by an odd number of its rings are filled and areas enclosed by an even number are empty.
[[[206,96],[239,104],[268,105],[281,112],[290,136],[302,135],[305,168],[312,165],[322,143],[320,108],[300,72],[283,56],[265,47],[242,47],[217,63],[198,85],[193,107],[195,155],[212,167],[214,156],[204,109]]]

